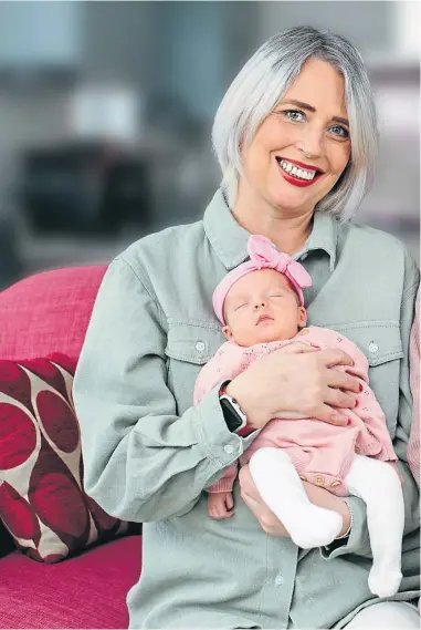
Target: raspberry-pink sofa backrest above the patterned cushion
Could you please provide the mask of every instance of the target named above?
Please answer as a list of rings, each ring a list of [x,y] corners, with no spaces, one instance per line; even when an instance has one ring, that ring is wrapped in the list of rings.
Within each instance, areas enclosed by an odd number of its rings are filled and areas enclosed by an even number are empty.
[[[77,359],[105,271],[102,265],[44,271],[0,292],[0,358]]]

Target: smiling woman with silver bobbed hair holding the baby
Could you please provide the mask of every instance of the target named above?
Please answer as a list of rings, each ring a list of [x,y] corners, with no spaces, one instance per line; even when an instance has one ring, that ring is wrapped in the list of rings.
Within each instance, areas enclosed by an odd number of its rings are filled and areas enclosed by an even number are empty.
[[[241,70],[217,113],[223,182],[203,220],[135,242],[107,270],[74,397],[86,492],[109,514],[145,524],[141,579],[128,595],[130,628],[365,627],[368,607],[379,627],[385,610],[389,628],[418,627],[408,603],[419,592],[418,488],[406,450],[418,271],[397,239],[346,220],[370,180],[376,138],[366,71],[349,42],[312,28],[275,35]],[[269,237],[311,273],[309,323],[343,332],[368,355],[404,478],[397,602],[379,603],[368,591],[362,502],[336,497],[324,478],[306,490],[343,517],[328,548],[293,545],[263,509],[246,468],[234,487],[234,517],[208,517],[203,488],[248,448],[255,430],[274,416],[344,423],[340,410],[351,406],[358,386],[335,370],[350,364],[345,352],[307,353],[297,344],[228,385],[246,414],[246,435],[222,412],[220,388],[192,407],[200,368],[223,341],[212,291],[246,259],[250,234]]]

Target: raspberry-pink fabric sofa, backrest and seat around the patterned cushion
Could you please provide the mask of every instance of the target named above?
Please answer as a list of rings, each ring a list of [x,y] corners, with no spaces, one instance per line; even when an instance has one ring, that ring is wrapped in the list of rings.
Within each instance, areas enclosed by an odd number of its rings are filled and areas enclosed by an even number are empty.
[[[106,267],[46,271],[0,293],[0,359],[78,358]],[[1,479],[0,479],[1,483]],[[54,565],[14,550],[0,525],[0,628],[127,628],[141,536],[96,544]]]

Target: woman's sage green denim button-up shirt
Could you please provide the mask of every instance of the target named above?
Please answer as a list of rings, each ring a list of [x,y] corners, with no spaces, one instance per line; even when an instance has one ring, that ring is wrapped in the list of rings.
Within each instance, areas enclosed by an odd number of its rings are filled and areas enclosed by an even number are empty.
[[[147,236],[118,256],[97,296],[74,400],[86,492],[109,514],[145,524],[130,628],[341,628],[378,601],[367,586],[370,544],[359,498],[347,499],[349,539],[306,551],[266,535],[238,484],[235,515],[208,516],[203,488],[254,438],[228,431],[218,388],[191,406],[201,366],[224,341],[211,296],[246,259],[248,237],[218,190],[202,221]],[[318,211],[295,258],[314,282],[308,323],[340,331],[368,358],[404,477],[404,578],[392,599],[412,599],[419,495],[407,465],[408,344],[417,267],[394,237]]]

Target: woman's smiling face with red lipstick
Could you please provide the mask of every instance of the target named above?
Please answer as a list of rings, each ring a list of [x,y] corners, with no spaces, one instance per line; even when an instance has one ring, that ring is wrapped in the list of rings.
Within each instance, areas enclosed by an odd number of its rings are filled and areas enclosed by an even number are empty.
[[[344,78],[311,58],[242,151],[240,192],[245,187],[293,216],[313,211],[340,177],[350,149]]]

